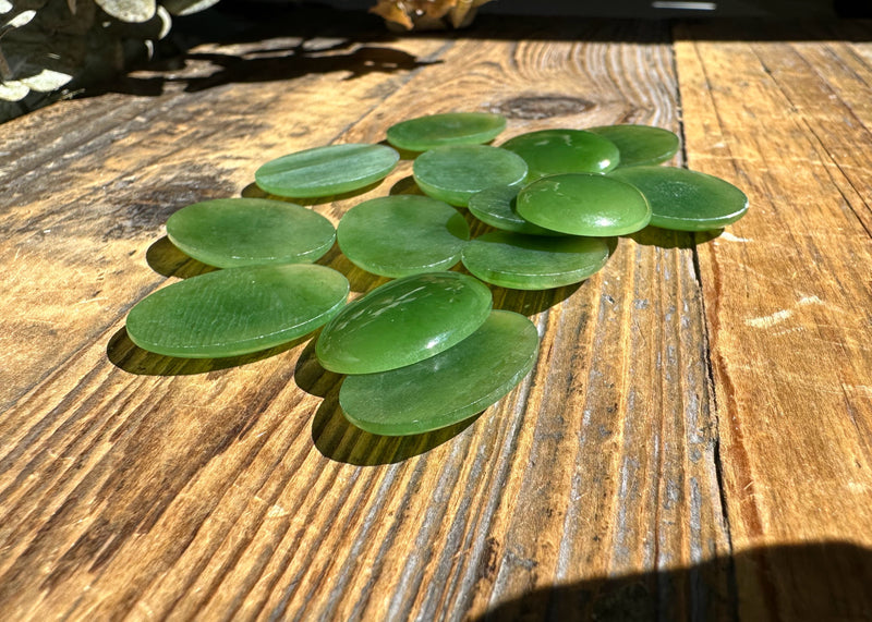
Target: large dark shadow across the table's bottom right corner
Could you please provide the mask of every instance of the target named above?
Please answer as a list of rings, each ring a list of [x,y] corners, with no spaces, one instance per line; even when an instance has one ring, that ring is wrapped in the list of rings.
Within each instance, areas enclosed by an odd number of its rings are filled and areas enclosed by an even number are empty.
[[[737,585],[742,594],[737,594]],[[689,569],[529,590],[474,622],[872,619],[872,550],[847,542],[750,549]],[[741,597],[741,600],[739,599]]]

